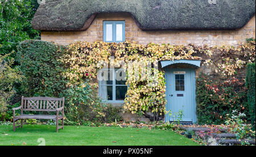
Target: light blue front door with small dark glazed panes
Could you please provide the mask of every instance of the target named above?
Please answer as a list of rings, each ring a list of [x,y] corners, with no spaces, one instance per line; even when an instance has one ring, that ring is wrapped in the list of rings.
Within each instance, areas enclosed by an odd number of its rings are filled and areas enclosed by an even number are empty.
[[[183,111],[182,121],[196,122],[195,69],[166,69],[166,121],[177,121]]]

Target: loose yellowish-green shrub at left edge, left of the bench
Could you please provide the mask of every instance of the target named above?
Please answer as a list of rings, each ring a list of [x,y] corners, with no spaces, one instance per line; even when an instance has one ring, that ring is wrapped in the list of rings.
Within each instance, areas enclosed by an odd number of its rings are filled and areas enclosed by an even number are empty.
[[[13,84],[21,77],[17,69],[11,68],[14,59],[7,56],[0,56],[0,120],[6,119],[7,106],[15,93]]]

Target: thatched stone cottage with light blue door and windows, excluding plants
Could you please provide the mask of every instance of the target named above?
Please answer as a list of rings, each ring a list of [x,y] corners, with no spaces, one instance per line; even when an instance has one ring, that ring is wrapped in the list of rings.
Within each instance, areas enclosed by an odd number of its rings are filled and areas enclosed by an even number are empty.
[[[39,6],[32,27],[41,31],[41,40],[61,45],[131,40],[145,45],[236,46],[255,38],[255,1],[49,0]],[[196,122],[195,78],[200,61],[163,61],[161,65],[166,68],[167,108],[185,105],[183,121]],[[112,87],[113,93],[104,94],[110,96],[108,103],[122,104],[127,87],[115,83]]]

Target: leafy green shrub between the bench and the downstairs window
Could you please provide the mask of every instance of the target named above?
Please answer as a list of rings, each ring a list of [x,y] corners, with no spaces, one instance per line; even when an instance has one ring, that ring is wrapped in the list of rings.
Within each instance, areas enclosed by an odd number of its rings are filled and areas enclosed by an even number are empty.
[[[121,121],[120,108],[110,104],[101,104],[100,98],[95,95],[89,84],[71,86],[64,96],[68,101],[66,107],[67,121],[81,125],[84,121],[90,122],[114,122]]]

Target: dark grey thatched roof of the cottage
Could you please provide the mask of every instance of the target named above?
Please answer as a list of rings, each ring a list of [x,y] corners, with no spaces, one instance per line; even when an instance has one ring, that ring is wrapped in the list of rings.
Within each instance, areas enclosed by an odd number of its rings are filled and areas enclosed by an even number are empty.
[[[255,0],[46,0],[32,27],[81,31],[102,12],[129,12],[143,30],[236,29],[255,14]]]

